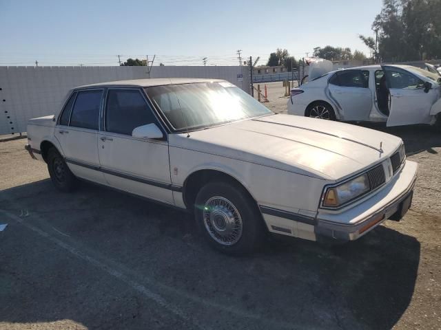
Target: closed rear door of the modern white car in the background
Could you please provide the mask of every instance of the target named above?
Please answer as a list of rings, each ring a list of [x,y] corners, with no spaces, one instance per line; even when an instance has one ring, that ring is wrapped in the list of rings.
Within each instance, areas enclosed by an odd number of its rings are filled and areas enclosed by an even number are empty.
[[[369,71],[348,69],[336,72],[329,78],[328,92],[329,98],[340,107],[342,120],[369,120],[372,109]]]

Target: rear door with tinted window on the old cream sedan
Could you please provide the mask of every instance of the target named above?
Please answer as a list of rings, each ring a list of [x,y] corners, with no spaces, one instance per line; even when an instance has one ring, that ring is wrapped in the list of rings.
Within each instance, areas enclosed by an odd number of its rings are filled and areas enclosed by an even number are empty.
[[[99,171],[98,130],[103,89],[74,91],[55,127],[65,160],[77,177],[105,184]]]

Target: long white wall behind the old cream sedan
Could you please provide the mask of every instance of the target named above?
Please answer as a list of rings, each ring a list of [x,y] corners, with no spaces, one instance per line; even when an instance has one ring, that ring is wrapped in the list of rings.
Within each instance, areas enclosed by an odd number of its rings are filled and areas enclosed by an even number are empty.
[[[237,74],[243,71],[243,82]],[[147,67],[0,67],[0,134],[26,131],[30,118],[51,115],[72,88],[149,78]],[[247,67],[152,67],[150,78],[218,78],[249,91]],[[3,101],[4,100],[4,101]]]

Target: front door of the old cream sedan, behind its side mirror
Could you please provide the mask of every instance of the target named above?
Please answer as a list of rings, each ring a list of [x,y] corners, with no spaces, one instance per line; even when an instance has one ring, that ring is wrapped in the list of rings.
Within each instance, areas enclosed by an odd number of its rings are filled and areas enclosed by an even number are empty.
[[[173,203],[167,135],[137,88],[109,88],[99,133],[99,160],[114,188]],[[138,126],[156,124],[162,140],[132,137]]]

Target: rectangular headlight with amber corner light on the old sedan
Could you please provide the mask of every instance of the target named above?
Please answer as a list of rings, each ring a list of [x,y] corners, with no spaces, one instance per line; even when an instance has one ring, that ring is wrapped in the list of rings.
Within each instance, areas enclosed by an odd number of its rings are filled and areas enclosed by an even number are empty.
[[[365,194],[369,190],[369,179],[365,173],[355,179],[346,181],[344,184],[340,184],[340,186],[327,188],[325,198],[323,199],[323,206],[335,208]]]

